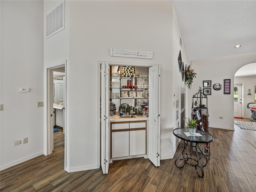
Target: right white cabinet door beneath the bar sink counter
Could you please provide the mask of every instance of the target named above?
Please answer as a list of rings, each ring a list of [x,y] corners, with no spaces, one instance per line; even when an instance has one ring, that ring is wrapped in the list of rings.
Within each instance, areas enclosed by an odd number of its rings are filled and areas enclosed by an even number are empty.
[[[130,130],[130,156],[146,154],[146,130]]]

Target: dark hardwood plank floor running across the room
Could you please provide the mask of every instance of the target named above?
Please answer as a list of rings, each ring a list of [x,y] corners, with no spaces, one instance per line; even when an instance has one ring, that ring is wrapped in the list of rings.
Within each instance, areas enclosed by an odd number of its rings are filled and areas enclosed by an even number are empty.
[[[248,119],[245,119],[248,120]],[[250,121],[250,120],[248,120]],[[161,160],[155,167],[148,159],[114,161],[109,173],[101,169],[64,171],[64,136],[54,133],[54,152],[0,172],[1,192],[256,192],[256,131],[210,128],[210,160],[199,178],[195,168],[176,168],[174,159]]]

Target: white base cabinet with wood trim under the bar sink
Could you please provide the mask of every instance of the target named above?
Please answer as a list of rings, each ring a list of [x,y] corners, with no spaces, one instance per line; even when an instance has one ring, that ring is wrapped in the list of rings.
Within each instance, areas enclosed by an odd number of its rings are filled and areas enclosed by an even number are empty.
[[[146,154],[146,121],[111,122],[111,158]]]

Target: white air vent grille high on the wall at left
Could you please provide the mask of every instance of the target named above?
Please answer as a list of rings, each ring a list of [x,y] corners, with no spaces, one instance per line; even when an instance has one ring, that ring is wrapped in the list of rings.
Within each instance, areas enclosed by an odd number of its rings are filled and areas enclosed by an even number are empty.
[[[46,14],[46,39],[65,28],[65,4],[62,1]]]

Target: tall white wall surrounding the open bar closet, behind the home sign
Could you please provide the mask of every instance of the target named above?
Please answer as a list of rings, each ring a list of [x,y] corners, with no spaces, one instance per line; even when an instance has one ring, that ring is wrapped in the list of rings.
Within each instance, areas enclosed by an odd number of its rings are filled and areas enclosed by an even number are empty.
[[[70,169],[96,167],[99,158],[99,104],[88,94],[97,93],[97,60],[161,64],[161,130],[172,125],[171,18],[169,1],[70,2]],[[154,59],[111,57],[109,48],[153,51]],[[77,82],[84,88],[78,90]]]

